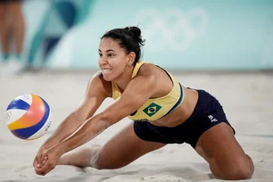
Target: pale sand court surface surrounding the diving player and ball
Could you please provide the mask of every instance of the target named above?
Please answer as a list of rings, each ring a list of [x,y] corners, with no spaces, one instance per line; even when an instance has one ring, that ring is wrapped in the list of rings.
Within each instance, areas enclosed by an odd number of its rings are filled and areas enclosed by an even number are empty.
[[[208,163],[189,145],[166,145],[118,170],[57,166],[45,177],[37,176],[32,161],[37,149],[59,123],[75,109],[94,72],[42,71],[16,77],[0,77],[0,181],[92,181],[92,182],[187,182],[221,181],[211,176]],[[273,75],[271,73],[175,73],[186,87],[203,88],[224,106],[227,119],[236,128],[236,139],[254,162],[252,179],[273,181]],[[33,141],[23,141],[6,127],[4,112],[12,99],[22,94],[42,96],[51,106],[49,132]],[[112,103],[107,99],[97,112]],[[103,145],[126,126],[121,120],[86,145]]]

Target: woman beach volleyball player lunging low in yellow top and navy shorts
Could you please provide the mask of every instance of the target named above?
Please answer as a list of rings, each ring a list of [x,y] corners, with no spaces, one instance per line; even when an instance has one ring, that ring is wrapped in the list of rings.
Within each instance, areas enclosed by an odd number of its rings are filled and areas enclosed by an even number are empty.
[[[218,100],[202,89],[182,86],[153,63],[139,61],[141,45],[136,27],[103,35],[101,71],[88,83],[79,108],[38,150],[33,162],[37,174],[56,165],[118,169],[164,145],[186,143],[210,164],[216,178],[251,178],[252,159],[237,143]],[[94,115],[106,97],[115,102]],[[79,147],[125,117],[134,121],[105,145]]]

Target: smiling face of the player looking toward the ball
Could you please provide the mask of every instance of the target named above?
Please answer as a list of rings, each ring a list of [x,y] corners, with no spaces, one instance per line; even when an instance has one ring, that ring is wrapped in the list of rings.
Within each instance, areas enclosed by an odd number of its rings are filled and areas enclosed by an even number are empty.
[[[103,79],[112,81],[119,78],[128,65],[128,54],[116,40],[103,38],[99,45],[98,64],[103,72]]]

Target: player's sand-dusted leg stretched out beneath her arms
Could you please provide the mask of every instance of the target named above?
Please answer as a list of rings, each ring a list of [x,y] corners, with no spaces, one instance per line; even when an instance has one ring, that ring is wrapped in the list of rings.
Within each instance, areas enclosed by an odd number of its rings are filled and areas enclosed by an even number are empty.
[[[64,154],[58,165],[91,166],[99,170],[118,169],[164,145],[140,139],[135,134],[132,122],[103,146],[84,146]]]

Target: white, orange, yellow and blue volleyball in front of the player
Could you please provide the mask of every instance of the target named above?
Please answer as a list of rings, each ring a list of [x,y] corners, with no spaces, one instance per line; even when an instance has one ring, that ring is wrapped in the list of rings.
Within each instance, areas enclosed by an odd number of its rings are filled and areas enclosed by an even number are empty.
[[[50,127],[50,114],[51,109],[42,97],[26,94],[14,98],[8,105],[5,121],[14,136],[34,140],[44,136]]]

